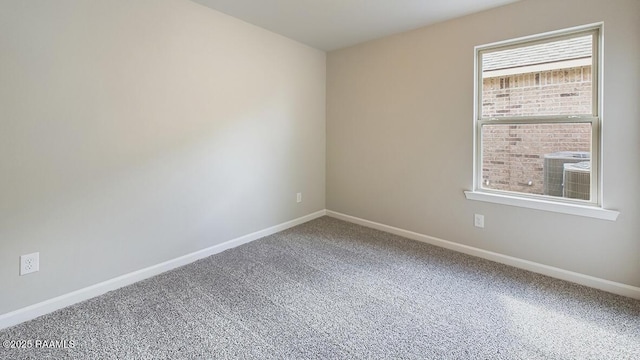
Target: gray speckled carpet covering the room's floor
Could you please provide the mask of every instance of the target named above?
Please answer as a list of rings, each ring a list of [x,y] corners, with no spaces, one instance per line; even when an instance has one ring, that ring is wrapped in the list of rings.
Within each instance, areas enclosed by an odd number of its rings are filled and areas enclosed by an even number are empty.
[[[640,301],[323,217],[5,329],[22,358],[640,359]]]

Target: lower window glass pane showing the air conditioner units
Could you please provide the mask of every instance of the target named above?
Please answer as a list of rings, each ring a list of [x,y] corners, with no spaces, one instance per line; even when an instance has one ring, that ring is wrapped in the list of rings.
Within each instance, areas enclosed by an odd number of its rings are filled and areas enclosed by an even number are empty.
[[[590,200],[591,124],[482,126],[482,187]]]

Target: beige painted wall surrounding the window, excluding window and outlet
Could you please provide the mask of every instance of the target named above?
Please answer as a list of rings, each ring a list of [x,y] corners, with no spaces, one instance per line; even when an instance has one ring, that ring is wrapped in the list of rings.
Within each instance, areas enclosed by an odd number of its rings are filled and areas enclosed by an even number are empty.
[[[474,46],[599,21],[604,203],[618,221],[466,200]],[[329,53],[327,208],[640,286],[638,34],[637,0],[525,0]]]

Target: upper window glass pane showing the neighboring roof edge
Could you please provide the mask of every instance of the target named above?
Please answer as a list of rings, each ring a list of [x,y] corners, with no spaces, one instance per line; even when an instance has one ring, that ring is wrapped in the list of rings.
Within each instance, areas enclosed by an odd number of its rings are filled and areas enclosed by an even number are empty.
[[[592,35],[481,54],[483,118],[592,115]]]

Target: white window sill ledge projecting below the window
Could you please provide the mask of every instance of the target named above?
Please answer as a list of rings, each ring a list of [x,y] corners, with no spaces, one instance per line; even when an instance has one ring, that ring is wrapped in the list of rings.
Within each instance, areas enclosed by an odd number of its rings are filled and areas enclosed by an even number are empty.
[[[465,191],[464,196],[468,200],[484,201],[494,204],[502,204],[509,206],[517,206],[528,209],[536,209],[543,211],[551,211],[561,214],[569,214],[576,216],[585,216],[590,218],[616,221],[619,211],[607,210],[600,207],[585,206],[577,204],[565,204],[553,201],[539,200],[539,199],[525,199],[515,196],[490,194],[479,191]]]

